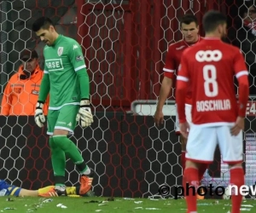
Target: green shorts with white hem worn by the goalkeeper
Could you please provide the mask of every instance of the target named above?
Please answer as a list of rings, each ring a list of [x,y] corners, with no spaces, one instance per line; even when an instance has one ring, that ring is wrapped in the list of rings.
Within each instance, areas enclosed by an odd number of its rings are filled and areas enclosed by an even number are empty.
[[[66,105],[60,110],[49,110],[47,116],[47,135],[53,135],[54,130],[68,130],[69,135],[77,125],[76,117],[79,105]]]

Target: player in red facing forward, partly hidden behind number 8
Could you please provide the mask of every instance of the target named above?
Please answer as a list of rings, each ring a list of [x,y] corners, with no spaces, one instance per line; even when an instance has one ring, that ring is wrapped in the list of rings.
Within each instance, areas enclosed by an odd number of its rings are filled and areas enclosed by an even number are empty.
[[[159,101],[157,104],[156,112],[154,113],[154,122],[157,126],[163,124],[164,121],[164,114],[162,112],[163,106],[165,101],[170,94],[172,88],[175,88],[176,84],[176,74],[177,68],[180,64],[180,58],[183,51],[195,43],[201,41],[201,37],[198,35],[199,26],[198,20],[196,19],[195,15],[193,14],[185,14],[180,21],[181,31],[183,33],[183,40],[178,41],[177,43],[172,43],[166,55],[166,65],[164,67],[164,78],[162,81],[161,89],[160,89],[160,96]],[[175,95],[174,89],[172,89],[172,96]],[[188,122],[191,121],[191,93],[190,91],[186,95],[186,117]],[[179,124],[178,118],[176,116],[176,133],[179,135]],[[183,170],[185,169],[185,153],[186,153],[186,144],[187,139],[180,135],[180,141],[182,145],[182,167]],[[202,178],[205,171],[207,170],[207,165],[203,165],[201,170],[199,171],[199,176]],[[201,179],[200,178],[200,179]]]

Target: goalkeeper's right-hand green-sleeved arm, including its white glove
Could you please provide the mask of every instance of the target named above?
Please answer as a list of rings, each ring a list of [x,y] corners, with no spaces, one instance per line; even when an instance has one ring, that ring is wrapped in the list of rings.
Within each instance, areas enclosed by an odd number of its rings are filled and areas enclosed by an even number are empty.
[[[90,81],[84,62],[83,52],[79,43],[71,43],[71,48],[69,49],[69,60],[73,65],[74,71],[77,73],[81,90],[80,109],[77,120],[81,120],[82,127],[87,127],[93,123],[89,97]]]

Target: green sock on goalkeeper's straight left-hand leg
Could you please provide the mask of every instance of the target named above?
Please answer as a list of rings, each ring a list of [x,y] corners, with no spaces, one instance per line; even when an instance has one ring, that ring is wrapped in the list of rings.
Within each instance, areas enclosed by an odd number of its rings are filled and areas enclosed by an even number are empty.
[[[55,185],[65,185],[66,156],[61,147],[58,147],[53,137],[49,138],[51,164],[54,170]],[[64,181],[64,182],[63,182]]]

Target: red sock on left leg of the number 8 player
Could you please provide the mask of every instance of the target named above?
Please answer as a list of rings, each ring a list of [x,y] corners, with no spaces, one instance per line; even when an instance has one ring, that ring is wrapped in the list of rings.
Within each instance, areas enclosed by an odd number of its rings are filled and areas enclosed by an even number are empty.
[[[184,171],[186,181],[189,182],[189,186],[195,186],[195,189],[199,186],[198,182],[198,170],[195,168],[188,168]],[[187,213],[196,212],[196,192],[194,194],[192,188],[186,194],[186,203],[188,207]],[[232,212],[233,213],[233,212]]]

